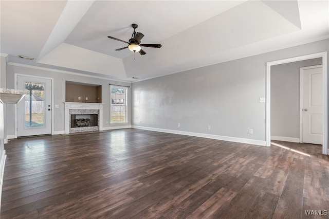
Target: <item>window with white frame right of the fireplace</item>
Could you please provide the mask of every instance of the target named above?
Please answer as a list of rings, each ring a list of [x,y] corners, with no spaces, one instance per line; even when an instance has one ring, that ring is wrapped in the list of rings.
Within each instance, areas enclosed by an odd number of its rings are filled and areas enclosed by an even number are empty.
[[[127,88],[111,85],[111,123],[127,122]]]

